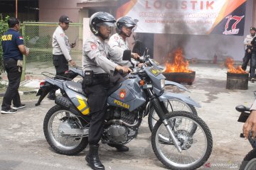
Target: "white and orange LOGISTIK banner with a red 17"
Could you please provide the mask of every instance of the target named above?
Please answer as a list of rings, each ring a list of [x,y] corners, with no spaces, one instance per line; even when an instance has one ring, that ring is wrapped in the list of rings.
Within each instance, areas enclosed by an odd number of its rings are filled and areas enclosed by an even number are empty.
[[[243,35],[246,0],[120,0],[117,18],[137,21],[137,33]]]

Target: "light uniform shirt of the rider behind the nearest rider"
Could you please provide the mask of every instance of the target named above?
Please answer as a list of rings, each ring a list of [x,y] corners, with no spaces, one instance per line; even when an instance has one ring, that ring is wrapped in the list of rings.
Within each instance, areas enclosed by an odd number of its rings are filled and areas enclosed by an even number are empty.
[[[128,41],[127,39],[124,40],[121,35],[119,35],[118,33],[115,33],[114,35],[112,35],[110,37],[110,40],[109,40],[109,45],[110,47],[112,47],[112,49],[114,49],[116,52],[118,52],[121,56],[119,58],[113,58],[112,60],[118,64],[121,64],[121,65],[125,65],[125,66],[128,66],[128,67],[131,67],[132,64],[129,62],[129,61],[123,61],[122,60],[122,55],[124,53],[124,50],[129,50],[129,44],[128,44]],[[136,60],[132,59],[132,63],[134,65],[137,65],[139,62],[137,62]]]

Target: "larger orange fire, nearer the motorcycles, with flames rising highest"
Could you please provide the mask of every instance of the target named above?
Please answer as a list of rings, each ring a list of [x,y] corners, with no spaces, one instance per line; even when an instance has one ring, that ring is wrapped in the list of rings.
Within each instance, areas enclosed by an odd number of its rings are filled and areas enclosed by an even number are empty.
[[[181,48],[174,52],[174,60],[166,62],[166,70],[164,72],[193,72],[188,69],[188,61],[184,60]]]

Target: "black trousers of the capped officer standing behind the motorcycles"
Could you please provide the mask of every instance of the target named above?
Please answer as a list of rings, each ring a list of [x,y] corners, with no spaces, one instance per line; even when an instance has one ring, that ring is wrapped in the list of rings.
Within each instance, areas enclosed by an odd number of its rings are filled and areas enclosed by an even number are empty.
[[[56,70],[55,79],[61,79],[60,77],[65,77],[65,72],[68,71],[68,61],[65,59],[64,55],[53,55],[53,65]],[[50,91],[50,95],[55,95],[55,91],[58,89],[53,89]]]

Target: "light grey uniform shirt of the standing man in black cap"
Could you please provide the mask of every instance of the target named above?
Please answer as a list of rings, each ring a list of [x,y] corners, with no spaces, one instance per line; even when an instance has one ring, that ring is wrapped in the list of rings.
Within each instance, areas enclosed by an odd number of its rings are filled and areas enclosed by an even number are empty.
[[[60,26],[53,33],[53,55],[64,55],[68,62],[72,60],[68,36]]]

